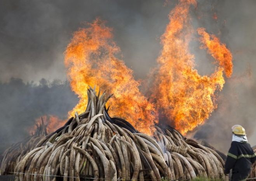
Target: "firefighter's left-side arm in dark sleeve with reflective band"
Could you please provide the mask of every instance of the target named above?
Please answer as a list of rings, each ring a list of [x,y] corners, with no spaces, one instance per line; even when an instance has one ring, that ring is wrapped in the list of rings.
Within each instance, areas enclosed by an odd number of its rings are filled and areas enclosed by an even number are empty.
[[[225,170],[224,170],[225,174],[229,174],[230,170],[233,169],[233,166],[237,161],[237,156],[238,156],[237,146],[235,145],[235,143],[232,142],[231,147],[228,150],[228,157],[225,163]]]

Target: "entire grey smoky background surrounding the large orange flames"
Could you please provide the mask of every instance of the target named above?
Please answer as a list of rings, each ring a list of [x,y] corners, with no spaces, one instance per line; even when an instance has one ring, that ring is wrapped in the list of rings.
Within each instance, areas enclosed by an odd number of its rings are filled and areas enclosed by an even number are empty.
[[[72,33],[84,27],[84,22],[92,22],[96,17],[106,21],[106,26],[113,28],[114,40],[122,50],[125,64],[134,71],[137,80],[144,79],[150,68],[156,66],[161,50],[160,36],[176,3],[176,0],[0,1],[0,116],[1,123],[5,124],[0,132],[9,131],[1,133],[1,141],[8,137],[6,146],[17,141],[10,141],[15,131],[26,136],[25,128],[43,114],[64,118],[77,103],[77,96],[65,82],[63,53]],[[228,149],[233,124],[244,125],[252,135],[249,141],[256,144],[253,136],[255,9],[255,0],[199,0],[190,13],[195,30],[206,28],[233,54],[233,75],[231,79],[225,78],[223,91],[218,93],[218,109],[193,133],[223,151]],[[199,48],[197,35],[190,50],[195,54],[200,75],[210,75],[215,68],[213,59]],[[42,78],[48,83],[44,84]]]

